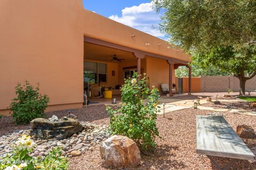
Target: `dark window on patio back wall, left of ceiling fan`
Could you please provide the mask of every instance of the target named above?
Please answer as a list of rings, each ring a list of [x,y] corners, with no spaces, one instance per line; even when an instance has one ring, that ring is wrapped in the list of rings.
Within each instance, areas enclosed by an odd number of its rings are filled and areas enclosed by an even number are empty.
[[[92,84],[107,81],[107,64],[84,62],[84,81]]]

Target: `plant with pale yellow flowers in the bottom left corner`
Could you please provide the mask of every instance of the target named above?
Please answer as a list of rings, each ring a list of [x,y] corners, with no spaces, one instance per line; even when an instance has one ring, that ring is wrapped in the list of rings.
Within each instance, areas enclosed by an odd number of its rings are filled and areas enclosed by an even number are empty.
[[[45,157],[29,156],[36,147],[36,143],[27,135],[22,135],[15,142],[11,151],[1,162],[0,169],[4,170],[66,170],[68,169],[68,158],[62,156],[60,148],[52,148]]]

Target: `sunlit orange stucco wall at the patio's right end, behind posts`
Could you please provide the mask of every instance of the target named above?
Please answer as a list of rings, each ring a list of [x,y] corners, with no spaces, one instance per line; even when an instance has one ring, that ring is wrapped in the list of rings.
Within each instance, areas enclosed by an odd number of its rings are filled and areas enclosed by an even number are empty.
[[[175,82],[174,67],[172,71],[173,83]],[[161,60],[153,57],[147,57],[147,75],[150,81],[150,88],[155,86],[161,90],[161,84],[169,84],[169,64],[166,60]]]

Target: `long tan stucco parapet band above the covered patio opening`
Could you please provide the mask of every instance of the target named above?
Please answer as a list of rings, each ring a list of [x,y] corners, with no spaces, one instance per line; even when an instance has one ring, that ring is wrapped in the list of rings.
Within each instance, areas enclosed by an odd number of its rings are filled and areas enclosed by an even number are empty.
[[[91,11],[83,10],[83,14],[86,16],[82,20],[85,36],[190,62],[189,55],[183,53],[181,49],[167,48],[171,45],[166,44],[166,41],[162,39],[127,27]],[[135,37],[131,37],[131,35],[135,35]],[[145,43],[149,43],[149,46],[146,46]],[[161,46],[158,46],[158,44],[161,44]]]

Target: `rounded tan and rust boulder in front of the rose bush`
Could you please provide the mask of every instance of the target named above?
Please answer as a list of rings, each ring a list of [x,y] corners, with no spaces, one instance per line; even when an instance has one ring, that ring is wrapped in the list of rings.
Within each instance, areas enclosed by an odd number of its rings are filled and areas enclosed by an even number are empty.
[[[102,142],[100,157],[103,167],[136,167],[141,161],[136,143],[121,135],[114,135]]]

